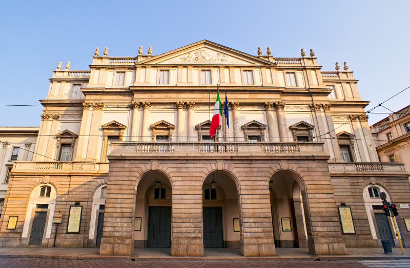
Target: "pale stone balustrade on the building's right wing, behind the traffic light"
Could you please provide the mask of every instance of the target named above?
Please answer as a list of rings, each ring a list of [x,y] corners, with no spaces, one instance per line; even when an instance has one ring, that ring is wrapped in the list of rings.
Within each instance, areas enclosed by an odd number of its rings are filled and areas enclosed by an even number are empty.
[[[378,163],[378,162],[352,162],[352,163],[332,163],[329,162],[331,174],[404,174],[403,163]]]

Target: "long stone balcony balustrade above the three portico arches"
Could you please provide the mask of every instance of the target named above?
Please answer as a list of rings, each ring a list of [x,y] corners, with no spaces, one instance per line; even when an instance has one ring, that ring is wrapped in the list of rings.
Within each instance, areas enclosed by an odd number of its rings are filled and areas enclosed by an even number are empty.
[[[323,142],[113,142],[110,158],[315,157],[329,158]]]

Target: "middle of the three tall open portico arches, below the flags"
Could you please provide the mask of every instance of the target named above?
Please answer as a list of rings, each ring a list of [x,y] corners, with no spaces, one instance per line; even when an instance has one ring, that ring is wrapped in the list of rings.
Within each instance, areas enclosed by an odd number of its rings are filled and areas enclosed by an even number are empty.
[[[204,248],[239,248],[238,190],[225,171],[210,173],[202,184]]]

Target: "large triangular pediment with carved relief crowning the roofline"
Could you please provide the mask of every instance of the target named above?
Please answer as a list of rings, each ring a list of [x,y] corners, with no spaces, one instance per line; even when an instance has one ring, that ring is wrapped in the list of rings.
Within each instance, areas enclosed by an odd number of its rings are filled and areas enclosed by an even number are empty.
[[[172,50],[138,64],[167,65],[275,65],[247,53],[203,40],[185,47]]]

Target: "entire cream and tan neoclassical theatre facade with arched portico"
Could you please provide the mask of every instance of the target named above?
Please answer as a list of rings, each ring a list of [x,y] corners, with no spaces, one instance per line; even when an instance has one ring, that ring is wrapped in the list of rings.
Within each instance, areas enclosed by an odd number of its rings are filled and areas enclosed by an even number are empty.
[[[378,161],[368,102],[347,64],[335,69],[313,50],[255,56],[206,40],[160,55],[96,49],[89,70],[60,62],[32,160],[10,170],[0,245],[342,255],[398,245],[385,192],[410,246],[408,173]],[[218,88],[230,127],[211,139]]]

